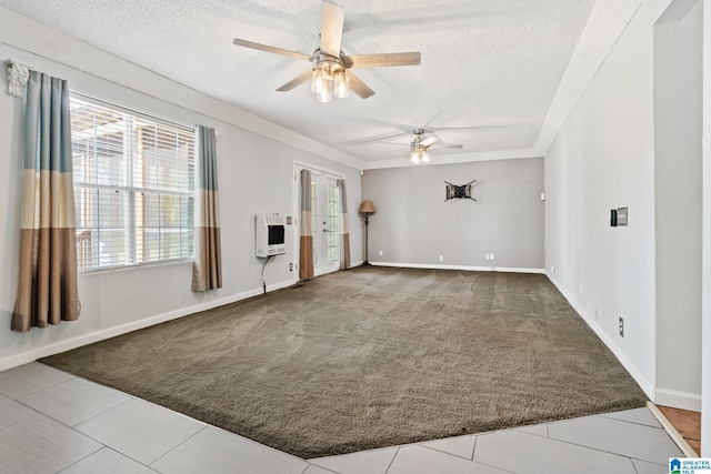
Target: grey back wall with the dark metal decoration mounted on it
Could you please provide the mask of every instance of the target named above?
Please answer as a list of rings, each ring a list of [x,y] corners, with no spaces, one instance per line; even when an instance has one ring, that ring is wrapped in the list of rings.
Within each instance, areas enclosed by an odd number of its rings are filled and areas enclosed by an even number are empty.
[[[477,180],[472,185],[477,202],[445,202],[444,181],[461,185],[471,180]],[[542,271],[541,192],[541,158],[368,170],[362,194],[378,211],[370,218],[368,260],[429,268]],[[495,260],[484,260],[487,253],[493,253]]]

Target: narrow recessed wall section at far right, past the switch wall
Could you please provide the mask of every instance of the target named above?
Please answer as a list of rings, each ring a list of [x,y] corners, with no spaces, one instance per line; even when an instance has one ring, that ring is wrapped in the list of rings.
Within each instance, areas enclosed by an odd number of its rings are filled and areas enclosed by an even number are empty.
[[[670,13],[654,27],[655,401],[699,410],[701,2],[691,11]],[[691,373],[692,367],[699,372]]]

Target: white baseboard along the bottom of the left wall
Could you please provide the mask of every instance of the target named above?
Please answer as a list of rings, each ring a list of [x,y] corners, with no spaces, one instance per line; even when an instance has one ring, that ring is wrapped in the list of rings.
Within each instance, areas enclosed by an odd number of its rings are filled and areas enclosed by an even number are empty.
[[[298,280],[286,281],[273,285],[268,285],[267,291],[281,290],[297,283]],[[81,347],[82,345],[93,344],[94,342],[103,341],[117,335],[126,334],[132,331],[150,327],[156,324],[164,323],[168,321],[177,320],[179,317],[187,316],[200,311],[210,310],[212,307],[222,306],[223,304],[234,303],[237,301],[246,300],[248,297],[258,296],[263,293],[263,289],[249,290],[242,293],[233,294],[230,296],[221,297],[218,300],[211,300],[204,303],[196,304],[188,307],[181,307],[179,310],[169,311],[167,313],[158,314],[154,316],[146,317],[139,321],[132,321],[130,323],[121,324],[118,326],[107,327],[104,330],[96,331],[90,334],[83,334],[80,336],[71,337],[66,341],[60,341],[53,344],[43,345],[41,347],[32,349],[21,354],[11,355],[9,357],[0,359],[0,371],[17,367],[19,365],[29,364],[38,359],[47,357],[50,355],[59,354],[61,352],[71,351],[72,349]]]

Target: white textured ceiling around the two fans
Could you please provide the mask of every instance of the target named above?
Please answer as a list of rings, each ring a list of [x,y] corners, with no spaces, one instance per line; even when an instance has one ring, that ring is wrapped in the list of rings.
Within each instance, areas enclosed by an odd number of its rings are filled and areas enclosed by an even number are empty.
[[[595,3],[334,2],[346,8],[344,54],[421,51],[422,63],[353,70],[375,94],[322,104],[308,83],[276,91],[308,62],[232,44],[241,38],[310,54],[319,43],[319,0],[0,0],[0,7],[374,164],[407,162],[413,128],[464,145],[433,150],[433,162],[531,149]]]

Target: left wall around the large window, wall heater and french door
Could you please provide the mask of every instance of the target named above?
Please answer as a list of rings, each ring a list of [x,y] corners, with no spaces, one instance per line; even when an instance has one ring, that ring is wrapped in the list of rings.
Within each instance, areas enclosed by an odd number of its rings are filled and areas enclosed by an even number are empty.
[[[358,229],[360,175],[354,160],[22,17],[0,11],[2,60],[12,58],[68,79],[70,89],[84,94],[188,125],[201,123],[221,130],[217,152],[223,265],[223,289],[208,293],[190,291],[190,262],[82,274],[79,321],[23,334],[11,332],[20,234],[23,100],[0,92],[0,228],[4,230],[0,234],[0,370],[261,293],[262,261],[253,256],[253,215],[292,213],[294,161],[346,178],[349,226]],[[269,138],[271,133],[278,140]],[[298,143],[298,148],[283,142]],[[298,262],[294,242],[291,232],[287,235],[289,254],[273,259],[264,272],[269,289],[297,279],[296,271],[289,271],[289,262]],[[352,233],[351,242],[351,260],[357,262],[361,260],[358,232]]]

